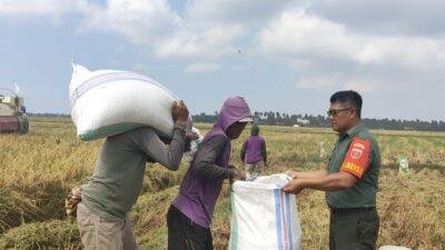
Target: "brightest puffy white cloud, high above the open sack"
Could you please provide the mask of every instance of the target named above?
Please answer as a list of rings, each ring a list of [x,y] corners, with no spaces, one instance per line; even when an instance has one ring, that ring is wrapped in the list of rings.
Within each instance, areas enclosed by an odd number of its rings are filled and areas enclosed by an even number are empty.
[[[350,57],[357,42],[346,28],[300,11],[285,11],[259,33],[259,49],[277,57]]]

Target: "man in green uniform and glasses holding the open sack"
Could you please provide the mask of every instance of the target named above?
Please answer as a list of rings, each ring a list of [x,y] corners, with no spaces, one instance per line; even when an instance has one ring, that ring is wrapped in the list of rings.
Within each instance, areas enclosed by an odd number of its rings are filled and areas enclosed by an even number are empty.
[[[312,172],[289,171],[293,180],[283,188],[290,193],[305,188],[326,191],[330,250],[376,248],[380,153],[376,140],[362,123],[362,97],[352,90],[330,97],[327,114],[333,130],[338,132],[338,140],[327,168]]]

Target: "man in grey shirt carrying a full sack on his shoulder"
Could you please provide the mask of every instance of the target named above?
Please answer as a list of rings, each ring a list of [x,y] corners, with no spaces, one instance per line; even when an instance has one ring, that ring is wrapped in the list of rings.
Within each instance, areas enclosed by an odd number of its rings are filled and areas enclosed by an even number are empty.
[[[172,103],[175,127],[168,146],[148,127],[105,140],[77,206],[77,222],[86,250],[138,249],[127,213],[139,197],[147,162],[159,162],[169,170],[179,168],[188,113],[182,101]]]

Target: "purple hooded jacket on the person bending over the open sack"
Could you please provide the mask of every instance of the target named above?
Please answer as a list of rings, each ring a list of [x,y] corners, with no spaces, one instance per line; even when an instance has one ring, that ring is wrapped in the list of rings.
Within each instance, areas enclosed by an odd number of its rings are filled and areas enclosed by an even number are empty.
[[[250,109],[243,98],[228,98],[224,102],[217,123],[204,138],[204,141],[201,142],[201,146],[182,180],[179,193],[172,202],[174,207],[201,227],[210,227],[215,204],[221,190],[222,181],[233,176],[228,169],[231,144],[230,139],[226,136],[227,129],[235,122],[250,117]],[[218,178],[215,176],[209,178],[205,174],[197,174],[196,168],[197,166],[202,164],[202,162],[196,160],[206,159],[199,158],[200,151],[211,150],[211,147],[206,147],[206,144],[215,143],[215,139],[225,140],[225,142],[220,143],[224,144],[224,148],[222,150],[218,150],[219,156],[216,157],[215,162],[210,166],[227,169],[225,170],[227,171],[227,176],[220,174]]]

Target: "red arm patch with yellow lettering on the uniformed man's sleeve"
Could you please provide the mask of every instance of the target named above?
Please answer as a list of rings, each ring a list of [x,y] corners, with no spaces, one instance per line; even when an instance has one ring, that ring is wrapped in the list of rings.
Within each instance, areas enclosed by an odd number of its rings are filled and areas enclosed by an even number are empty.
[[[369,167],[370,141],[354,138],[343,161],[340,171],[362,178]]]

